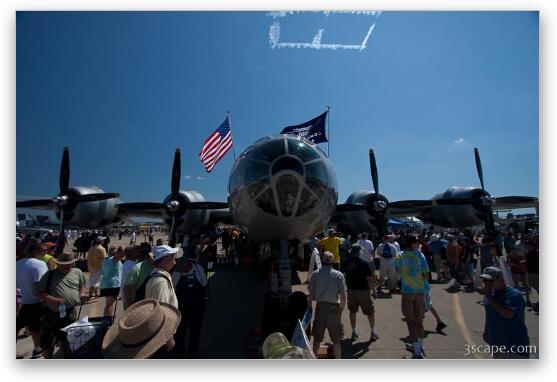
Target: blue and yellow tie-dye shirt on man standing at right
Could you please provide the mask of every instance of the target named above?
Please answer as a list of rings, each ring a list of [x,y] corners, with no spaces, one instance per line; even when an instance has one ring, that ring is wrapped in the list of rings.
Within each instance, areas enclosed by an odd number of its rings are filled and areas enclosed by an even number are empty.
[[[395,257],[400,272],[402,293],[425,293],[424,273],[429,272],[425,256],[420,251],[403,251]]]

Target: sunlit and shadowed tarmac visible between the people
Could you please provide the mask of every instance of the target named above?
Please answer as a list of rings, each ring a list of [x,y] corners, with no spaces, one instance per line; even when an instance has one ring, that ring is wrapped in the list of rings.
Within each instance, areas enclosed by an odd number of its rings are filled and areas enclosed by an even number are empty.
[[[138,243],[143,237],[138,236]],[[155,238],[156,239],[156,238]],[[70,242],[71,243],[71,242]],[[111,245],[129,244],[129,238],[122,241],[112,238]],[[69,247],[71,248],[71,247]],[[219,247],[219,252],[222,254]],[[298,272],[300,279],[307,279],[306,272]],[[86,273],[88,277],[88,274]],[[433,306],[447,324],[442,332],[436,332],[436,321],[431,313],[426,313],[424,328],[426,338],[424,348],[428,359],[490,359],[491,355],[482,352],[469,352],[472,346],[485,345],[482,333],[485,323],[483,296],[478,292],[461,289],[453,291],[448,282],[432,283],[431,299]],[[293,291],[307,293],[307,285],[295,285]],[[532,291],[532,301],[538,296]],[[209,273],[209,301],[205,311],[201,333],[199,354],[205,359],[252,359],[260,358],[259,337],[263,317],[262,277],[252,268],[236,267],[233,264],[215,266]],[[401,295],[382,293],[375,303],[375,329],[379,339],[370,342],[370,328],[367,318],[358,312],[356,315],[359,337],[350,339],[351,328],[347,309],[342,313],[345,338],[342,341],[343,359],[409,359],[412,353],[405,348],[408,331],[402,321]],[[83,305],[81,317],[102,316],[104,298]],[[116,319],[122,313],[119,300]],[[526,310],[526,326],[530,345],[536,352],[531,358],[539,358],[539,315],[531,308]],[[23,331],[21,332],[23,333]],[[20,336],[21,337],[21,336]],[[310,339],[311,341],[312,339]],[[322,345],[330,344],[328,334]],[[32,353],[31,337],[20,338],[16,343],[16,354],[30,358]],[[55,353],[55,358],[60,358]],[[41,358],[42,359],[42,358]]]

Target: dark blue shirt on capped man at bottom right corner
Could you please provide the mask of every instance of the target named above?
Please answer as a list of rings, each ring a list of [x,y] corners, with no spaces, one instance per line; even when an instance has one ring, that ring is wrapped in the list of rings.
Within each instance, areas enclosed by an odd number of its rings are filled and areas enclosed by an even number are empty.
[[[493,293],[493,298],[505,308],[513,311],[510,319],[505,319],[493,309],[489,300],[484,298],[485,320],[490,345],[506,346],[530,344],[528,329],[524,323],[526,304],[522,294],[515,288],[507,287]],[[527,350],[527,349],[524,349]]]

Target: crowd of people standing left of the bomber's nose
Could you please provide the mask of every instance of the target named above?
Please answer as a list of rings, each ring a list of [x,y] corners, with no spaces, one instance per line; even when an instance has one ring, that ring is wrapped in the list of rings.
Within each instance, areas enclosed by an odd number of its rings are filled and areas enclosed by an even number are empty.
[[[163,311],[178,312],[179,325],[164,346],[149,357],[198,356],[207,296],[207,276],[198,259],[206,245],[184,252],[176,262],[179,249],[164,245],[162,239],[154,247],[143,242],[109,246],[107,250],[107,237],[96,236],[85,259],[80,260],[77,245],[74,253],[55,254],[56,244],[46,241],[52,239],[51,235],[39,234],[16,239],[16,337],[23,328],[31,334],[34,345],[31,358],[52,358],[55,345],[65,345],[60,329],[78,319],[82,304],[100,297],[105,298],[103,316],[111,323],[119,298],[125,311],[140,301],[155,300]],[[80,269],[83,265],[89,273],[88,283]],[[115,340],[118,338],[115,336]],[[106,347],[107,357],[123,356],[110,350],[113,345],[107,343]]]

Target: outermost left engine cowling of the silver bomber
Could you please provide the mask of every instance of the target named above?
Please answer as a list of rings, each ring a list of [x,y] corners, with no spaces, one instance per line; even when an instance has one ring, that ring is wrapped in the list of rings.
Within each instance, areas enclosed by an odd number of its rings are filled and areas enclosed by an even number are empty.
[[[99,194],[104,191],[96,186],[76,186],[68,189],[68,195],[90,195]],[[118,198],[111,198],[93,202],[69,202],[63,207],[55,207],[55,214],[60,219],[61,208],[64,208],[64,220],[66,225],[74,225],[81,228],[100,228],[115,223],[118,208]]]

